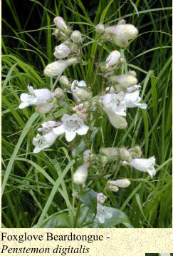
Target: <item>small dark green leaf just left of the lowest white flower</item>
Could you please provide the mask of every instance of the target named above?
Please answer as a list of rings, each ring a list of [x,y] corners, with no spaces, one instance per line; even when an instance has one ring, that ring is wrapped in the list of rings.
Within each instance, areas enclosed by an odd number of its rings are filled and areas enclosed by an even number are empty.
[[[97,193],[94,190],[86,189],[85,193],[78,193],[80,201],[88,206],[93,213],[97,211]]]

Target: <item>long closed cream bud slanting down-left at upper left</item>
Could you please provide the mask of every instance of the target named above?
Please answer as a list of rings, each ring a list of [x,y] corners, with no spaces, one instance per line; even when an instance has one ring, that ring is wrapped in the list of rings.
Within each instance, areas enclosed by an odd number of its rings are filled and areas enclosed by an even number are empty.
[[[44,74],[49,77],[59,76],[65,71],[65,68],[76,63],[78,63],[78,58],[68,58],[65,61],[54,61],[46,66]]]

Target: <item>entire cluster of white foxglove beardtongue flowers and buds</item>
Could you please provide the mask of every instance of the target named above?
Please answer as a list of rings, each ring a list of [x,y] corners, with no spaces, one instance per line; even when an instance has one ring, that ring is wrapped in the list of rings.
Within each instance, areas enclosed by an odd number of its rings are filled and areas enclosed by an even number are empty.
[[[155,158],[145,159],[142,157],[140,146],[134,148],[100,148],[98,153],[94,152],[93,134],[95,135],[100,130],[100,127],[95,127],[96,116],[108,116],[108,120],[116,129],[127,128],[127,109],[142,108],[146,109],[147,104],[142,103],[140,98],[140,84],[137,81],[137,73],[128,71],[121,73],[121,67],[125,63],[125,57],[121,56],[120,51],[111,51],[104,63],[100,66],[103,72],[102,89],[98,95],[93,96],[92,86],[87,86],[87,81],[70,81],[66,76],[61,76],[63,71],[71,65],[80,63],[83,64],[82,46],[83,36],[80,31],[72,31],[62,17],[58,16],[54,19],[56,29],[53,35],[56,39],[61,40],[61,44],[56,46],[54,56],[56,61],[49,63],[44,69],[45,76],[50,78],[59,76],[61,87],[55,91],[49,91],[47,88],[33,89],[28,86],[29,93],[21,94],[21,104],[19,108],[28,106],[36,106],[35,111],[40,114],[56,113],[56,108],[61,108],[63,104],[68,104],[67,113],[63,114],[61,121],[56,120],[56,115],[53,115],[51,121],[44,121],[41,128],[38,128],[38,134],[33,138],[35,146],[33,153],[39,153],[41,150],[50,148],[56,139],[60,136],[65,136],[65,140],[72,145],[73,149],[81,144],[80,154],[83,153],[83,158],[80,158],[80,165],[73,173],[73,183],[76,190],[85,188],[85,183],[88,181],[90,174],[104,184],[104,193],[107,190],[117,193],[119,189],[130,186],[131,181],[127,177],[118,178],[117,180],[108,180],[106,172],[110,177],[115,173],[114,169],[110,168],[110,161],[114,160],[122,168],[124,165],[130,165],[136,170],[147,172],[151,178],[155,175],[154,169]],[[125,24],[124,20],[120,20],[114,26],[104,26],[98,24],[95,27],[98,33],[100,43],[110,41],[116,46],[125,48],[131,39],[134,39],[138,34],[137,28],[132,24]],[[105,79],[106,78],[106,79]],[[93,86],[95,78],[93,78]],[[70,93],[70,98],[73,98],[73,106],[65,101]],[[69,102],[69,101],[68,101]],[[84,140],[80,140],[79,136],[84,136]],[[83,141],[85,141],[83,145]],[[90,147],[86,150],[87,147]],[[75,158],[74,151],[72,157]],[[81,160],[83,164],[81,165]],[[106,178],[105,178],[106,177]],[[106,182],[105,182],[106,179]],[[81,186],[82,185],[82,186]],[[75,198],[78,197],[78,193]],[[103,191],[97,194],[97,214],[95,217],[100,223],[105,222],[105,219],[112,217],[103,205],[107,196]]]

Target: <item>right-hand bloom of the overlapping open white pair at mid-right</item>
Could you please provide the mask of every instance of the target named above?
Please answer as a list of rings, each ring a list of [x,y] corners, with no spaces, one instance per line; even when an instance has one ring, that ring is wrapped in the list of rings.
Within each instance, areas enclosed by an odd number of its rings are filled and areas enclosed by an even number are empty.
[[[140,103],[140,91],[134,91],[132,93],[125,93],[125,104],[127,108],[147,108],[147,104],[145,103]]]

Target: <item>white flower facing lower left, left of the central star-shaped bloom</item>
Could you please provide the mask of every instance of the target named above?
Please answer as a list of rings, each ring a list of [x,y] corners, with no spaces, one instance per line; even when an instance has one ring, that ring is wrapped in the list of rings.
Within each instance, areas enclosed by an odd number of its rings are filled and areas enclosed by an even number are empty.
[[[41,150],[51,147],[57,137],[58,135],[53,133],[53,131],[44,135],[37,134],[36,137],[33,138],[33,145],[35,145],[33,153],[39,153]]]

